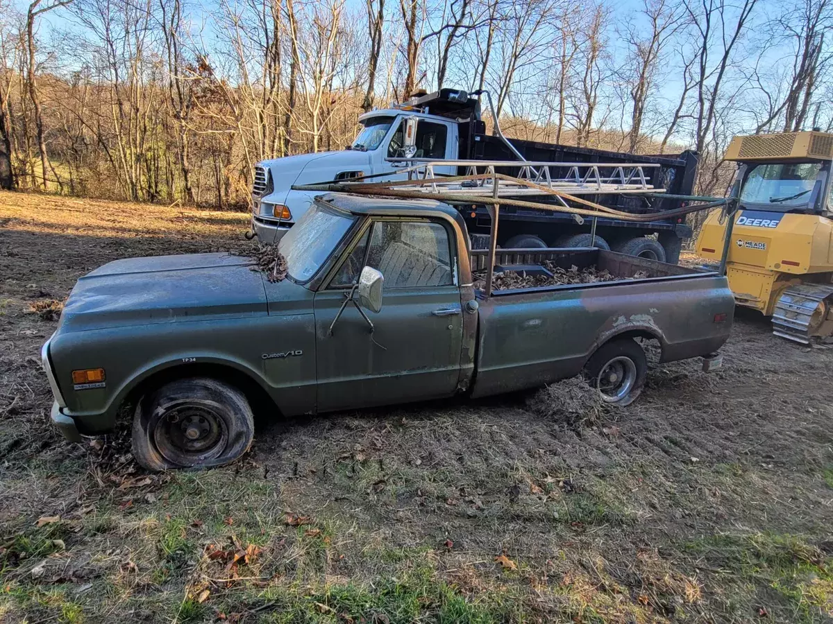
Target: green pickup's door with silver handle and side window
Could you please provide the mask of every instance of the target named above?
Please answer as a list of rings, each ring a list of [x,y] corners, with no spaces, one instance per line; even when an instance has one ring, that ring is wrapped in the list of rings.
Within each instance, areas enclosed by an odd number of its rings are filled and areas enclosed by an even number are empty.
[[[451,396],[460,371],[462,314],[456,250],[431,220],[375,220],[315,296],[318,409],[350,409]],[[385,277],[382,310],[367,321],[348,305],[365,265]]]

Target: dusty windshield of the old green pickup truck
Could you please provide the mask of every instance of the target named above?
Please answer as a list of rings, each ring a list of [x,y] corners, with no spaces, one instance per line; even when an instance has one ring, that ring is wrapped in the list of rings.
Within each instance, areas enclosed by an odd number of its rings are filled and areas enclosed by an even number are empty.
[[[313,204],[278,245],[292,280],[312,280],[355,220],[355,216]]]

